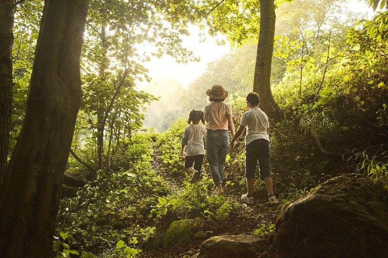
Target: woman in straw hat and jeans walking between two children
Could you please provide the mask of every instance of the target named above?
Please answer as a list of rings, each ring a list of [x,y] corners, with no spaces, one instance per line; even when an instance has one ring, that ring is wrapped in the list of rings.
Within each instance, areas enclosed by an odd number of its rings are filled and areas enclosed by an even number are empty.
[[[210,174],[216,186],[215,193],[223,194],[222,181],[226,154],[229,150],[229,132],[235,134],[232,118],[232,107],[224,101],[227,91],[221,85],[213,85],[206,91],[210,104],[205,106],[206,125],[206,153],[209,162]]]

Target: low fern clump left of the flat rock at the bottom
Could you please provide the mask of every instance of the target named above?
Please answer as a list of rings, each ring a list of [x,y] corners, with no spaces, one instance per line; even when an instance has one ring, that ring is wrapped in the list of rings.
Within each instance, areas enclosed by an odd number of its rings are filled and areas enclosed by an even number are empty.
[[[173,221],[164,235],[163,245],[167,246],[172,242],[175,242],[174,246],[190,243],[192,235],[193,232],[188,219]]]

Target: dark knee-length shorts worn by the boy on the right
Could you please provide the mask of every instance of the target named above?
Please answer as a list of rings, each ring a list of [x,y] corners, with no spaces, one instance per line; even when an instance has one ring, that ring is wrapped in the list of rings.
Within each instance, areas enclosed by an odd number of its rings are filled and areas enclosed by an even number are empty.
[[[270,142],[266,139],[256,139],[245,145],[245,178],[256,178],[256,165],[258,163],[260,179],[272,177]]]

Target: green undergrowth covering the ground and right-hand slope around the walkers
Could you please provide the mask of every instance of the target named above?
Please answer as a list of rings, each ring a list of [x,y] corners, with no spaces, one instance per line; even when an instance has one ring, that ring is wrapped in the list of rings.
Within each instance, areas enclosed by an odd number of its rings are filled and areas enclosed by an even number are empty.
[[[357,42],[358,34],[348,37]],[[388,46],[377,43],[379,51],[344,53],[324,80],[311,69],[304,71],[302,85],[295,77],[300,73],[290,72],[273,87],[282,114],[270,124],[277,206],[268,205],[261,180],[254,185],[255,205],[240,201],[246,192],[243,137],[227,156],[225,196],[214,195],[206,158],[200,182],[191,184],[180,157],[187,123],[179,118],[163,133],[131,135],[110,169],[97,171],[75,197],[62,199],[57,257],[141,257],[178,247],[184,252],[221,234],[270,239],[282,207],[332,177],[359,173],[388,188],[388,60],[379,56]],[[246,111],[244,96],[231,94],[228,101],[237,128]],[[77,169],[70,159],[68,170]]]

